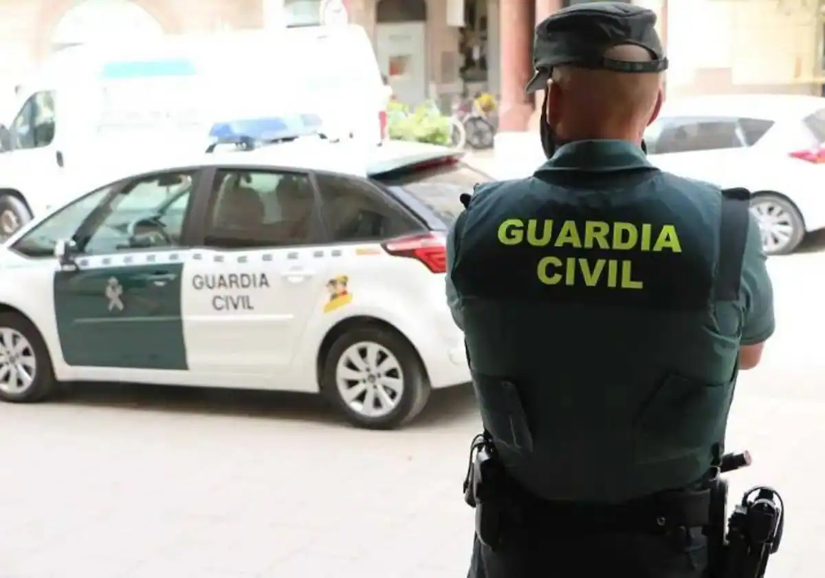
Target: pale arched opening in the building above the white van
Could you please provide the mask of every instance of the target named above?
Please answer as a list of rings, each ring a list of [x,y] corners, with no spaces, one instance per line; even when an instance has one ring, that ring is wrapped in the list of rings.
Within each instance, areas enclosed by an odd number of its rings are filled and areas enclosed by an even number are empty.
[[[54,26],[52,51],[94,40],[132,40],[163,35],[163,26],[129,0],[84,0]]]

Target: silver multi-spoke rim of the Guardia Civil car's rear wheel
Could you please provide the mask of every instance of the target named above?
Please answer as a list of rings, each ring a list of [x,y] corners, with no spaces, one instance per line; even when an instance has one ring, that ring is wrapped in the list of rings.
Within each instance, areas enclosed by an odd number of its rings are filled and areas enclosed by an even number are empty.
[[[338,395],[365,418],[381,418],[401,402],[404,376],[401,362],[379,343],[362,341],[347,348],[335,368]]]

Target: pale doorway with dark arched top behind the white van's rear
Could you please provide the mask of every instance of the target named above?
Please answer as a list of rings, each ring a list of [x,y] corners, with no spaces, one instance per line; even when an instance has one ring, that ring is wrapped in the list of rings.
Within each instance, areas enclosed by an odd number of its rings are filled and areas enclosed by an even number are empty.
[[[409,105],[427,98],[427,1],[380,0],[375,54],[395,97]]]

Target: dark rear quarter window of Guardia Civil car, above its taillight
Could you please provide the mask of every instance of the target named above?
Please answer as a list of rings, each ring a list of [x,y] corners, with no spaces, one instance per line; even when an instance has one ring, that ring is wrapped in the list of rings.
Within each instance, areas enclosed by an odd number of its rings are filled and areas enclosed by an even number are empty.
[[[332,241],[347,243],[388,239],[410,229],[398,208],[380,199],[380,189],[356,178],[318,174],[321,215]]]

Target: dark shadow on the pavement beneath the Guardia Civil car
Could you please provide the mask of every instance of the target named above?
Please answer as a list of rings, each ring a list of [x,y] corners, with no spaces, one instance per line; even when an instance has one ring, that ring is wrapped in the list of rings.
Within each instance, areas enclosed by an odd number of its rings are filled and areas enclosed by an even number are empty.
[[[322,396],[283,391],[225,390],[132,383],[65,384],[55,403],[128,410],[247,416],[340,424],[346,421]],[[433,391],[427,407],[410,427],[441,427],[478,415],[471,386]]]

